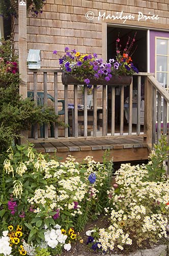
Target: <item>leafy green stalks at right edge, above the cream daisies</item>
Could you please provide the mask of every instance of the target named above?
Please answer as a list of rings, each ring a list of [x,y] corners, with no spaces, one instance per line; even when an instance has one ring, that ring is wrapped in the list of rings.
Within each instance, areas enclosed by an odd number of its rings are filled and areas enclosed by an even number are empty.
[[[149,181],[161,181],[165,180],[166,169],[163,164],[168,158],[169,145],[167,143],[167,137],[162,135],[158,144],[154,144],[154,151],[150,154],[150,162],[146,165],[148,169]]]

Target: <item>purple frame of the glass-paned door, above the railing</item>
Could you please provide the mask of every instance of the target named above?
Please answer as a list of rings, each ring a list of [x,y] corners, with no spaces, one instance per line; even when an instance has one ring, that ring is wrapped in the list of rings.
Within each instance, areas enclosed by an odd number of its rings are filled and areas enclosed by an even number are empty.
[[[150,31],[150,72],[155,72],[155,36],[168,37],[168,32]]]

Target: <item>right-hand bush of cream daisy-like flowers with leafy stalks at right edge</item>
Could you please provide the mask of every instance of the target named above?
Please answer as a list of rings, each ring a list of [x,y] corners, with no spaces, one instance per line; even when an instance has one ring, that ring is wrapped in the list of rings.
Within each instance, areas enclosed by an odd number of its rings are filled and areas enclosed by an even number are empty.
[[[148,165],[122,164],[115,173],[116,184],[107,190],[109,198],[105,215],[110,219],[107,229],[93,232],[93,249],[129,252],[147,248],[166,238],[169,209],[169,180],[163,161],[168,146],[162,136]]]

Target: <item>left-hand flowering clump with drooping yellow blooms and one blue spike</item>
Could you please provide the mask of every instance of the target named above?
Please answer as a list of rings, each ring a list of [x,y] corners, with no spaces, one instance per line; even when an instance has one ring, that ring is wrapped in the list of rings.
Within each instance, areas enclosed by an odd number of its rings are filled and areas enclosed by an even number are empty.
[[[19,226],[25,240],[17,248],[12,240],[12,252],[22,246],[41,251],[41,243],[51,255],[70,249],[69,241],[78,239],[75,230],[97,219],[107,205],[111,172],[111,163],[96,163],[91,157],[78,163],[69,156],[60,163],[31,146],[9,148],[1,174],[1,232],[9,229],[12,237]]]

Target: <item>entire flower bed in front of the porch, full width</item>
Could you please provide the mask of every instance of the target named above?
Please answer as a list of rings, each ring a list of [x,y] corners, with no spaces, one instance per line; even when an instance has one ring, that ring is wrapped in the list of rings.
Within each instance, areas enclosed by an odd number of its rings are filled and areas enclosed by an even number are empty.
[[[122,164],[112,179],[107,156],[102,164],[90,156],[58,162],[32,146],[9,148],[0,186],[1,256],[130,255],[136,249],[147,255],[140,249],[167,238],[168,150],[162,136],[147,165]]]

